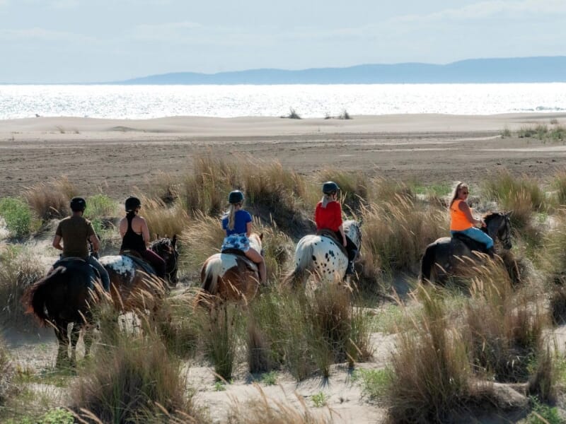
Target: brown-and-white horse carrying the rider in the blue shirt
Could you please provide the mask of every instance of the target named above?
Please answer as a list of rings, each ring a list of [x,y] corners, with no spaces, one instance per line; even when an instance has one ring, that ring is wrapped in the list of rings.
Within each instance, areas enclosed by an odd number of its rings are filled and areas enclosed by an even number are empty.
[[[262,252],[263,235],[250,234],[250,247]],[[209,257],[200,269],[200,281],[204,294],[221,300],[249,302],[258,293],[260,273],[258,265],[243,252],[216,253]]]

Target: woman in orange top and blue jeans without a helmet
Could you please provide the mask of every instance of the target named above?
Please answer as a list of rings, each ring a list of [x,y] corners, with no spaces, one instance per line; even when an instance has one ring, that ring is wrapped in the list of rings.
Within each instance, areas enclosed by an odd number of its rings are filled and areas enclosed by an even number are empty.
[[[483,220],[475,219],[472,216],[472,211],[466,199],[470,194],[470,189],[468,189],[468,184],[463,182],[458,182],[454,188],[454,193],[452,194],[452,200],[450,201],[449,211],[450,211],[450,233],[455,235],[457,233],[466,235],[477,242],[483,243],[487,250],[487,254],[493,257],[493,239],[483,232],[475,225],[481,225],[485,227],[485,222]]]

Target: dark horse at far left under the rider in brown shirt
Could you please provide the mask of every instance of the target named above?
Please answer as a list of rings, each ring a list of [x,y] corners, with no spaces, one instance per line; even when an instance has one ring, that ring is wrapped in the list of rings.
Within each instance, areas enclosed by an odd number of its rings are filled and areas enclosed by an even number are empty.
[[[27,290],[23,304],[27,312],[35,314],[40,324],[54,327],[59,341],[56,366],[74,366],[76,343],[83,328],[86,330],[83,336],[85,355],[88,355],[91,348],[92,332],[88,331],[93,326],[91,306],[99,299],[100,278],[82,259],[69,258],[58,264]],[[73,324],[70,338],[69,324]]]

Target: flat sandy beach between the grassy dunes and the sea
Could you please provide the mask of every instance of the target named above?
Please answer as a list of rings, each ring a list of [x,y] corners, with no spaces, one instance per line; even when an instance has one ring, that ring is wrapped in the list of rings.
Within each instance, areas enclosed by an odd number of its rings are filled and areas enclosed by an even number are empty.
[[[85,195],[121,198],[161,172],[190,172],[192,158],[207,153],[277,159],[304,175],[335,167],[422,183],[473,182],[505,167],[545,179],[565,163],[562,141],[500,136],[538,124],[565,125],[566,113],[11,119],[0,122],[0,196],[66,175]]]

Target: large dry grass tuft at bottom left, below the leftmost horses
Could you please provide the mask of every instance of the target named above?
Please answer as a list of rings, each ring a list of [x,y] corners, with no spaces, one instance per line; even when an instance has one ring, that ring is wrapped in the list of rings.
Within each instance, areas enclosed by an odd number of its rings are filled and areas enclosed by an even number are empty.
[[[72,409],[91,423],[204,422],[185,397],[180,363],[158,337],[113,331],[115,344],[100,346],[72,385]]]

